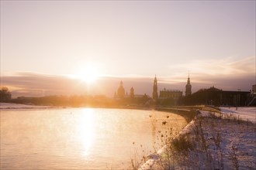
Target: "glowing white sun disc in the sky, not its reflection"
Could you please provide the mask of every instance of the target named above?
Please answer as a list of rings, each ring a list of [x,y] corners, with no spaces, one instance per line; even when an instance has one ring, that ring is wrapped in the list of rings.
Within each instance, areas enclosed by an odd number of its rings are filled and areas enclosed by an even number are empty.
[[[73,77],[86,83],[94,83],[99,78],[99,69],[92,65],[83,66]]]

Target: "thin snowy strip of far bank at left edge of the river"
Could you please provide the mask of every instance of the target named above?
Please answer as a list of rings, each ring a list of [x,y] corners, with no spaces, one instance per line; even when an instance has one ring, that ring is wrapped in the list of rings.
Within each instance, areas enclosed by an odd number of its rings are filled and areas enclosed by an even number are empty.
[[[10,104],[10,103],[0,103],[0,109],[47,109],[55,108],[50,106],[34,106],[27,104]]]

